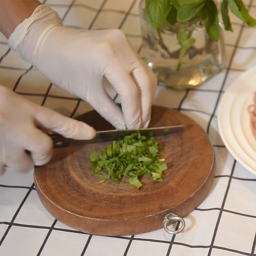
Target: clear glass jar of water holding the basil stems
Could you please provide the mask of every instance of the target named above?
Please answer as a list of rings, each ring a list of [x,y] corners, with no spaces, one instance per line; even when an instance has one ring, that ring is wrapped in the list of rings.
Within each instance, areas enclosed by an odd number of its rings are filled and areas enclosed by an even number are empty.
[[[155,30],[148,22],[145,1],[140,1],[142,59],[155,72],[159,82],[175,89],[195,87],[219,73],[226,65],[223,27],[215,42],[200,21],[196,24],[179,23]],[[185,31],[195,42],[186,49],[177,39]],[[194,40],[193,39],[193,40]],[[181,53],[183,51],[184,56]]]

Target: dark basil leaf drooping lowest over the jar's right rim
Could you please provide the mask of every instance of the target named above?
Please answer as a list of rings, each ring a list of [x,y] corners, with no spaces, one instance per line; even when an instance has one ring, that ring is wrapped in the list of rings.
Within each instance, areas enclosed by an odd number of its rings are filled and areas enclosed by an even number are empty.
[[[208,35],[214,41],[218,42],[220,37],[220,25],[216,4],[212,0],[205,1],[202,14],[204,27]]]

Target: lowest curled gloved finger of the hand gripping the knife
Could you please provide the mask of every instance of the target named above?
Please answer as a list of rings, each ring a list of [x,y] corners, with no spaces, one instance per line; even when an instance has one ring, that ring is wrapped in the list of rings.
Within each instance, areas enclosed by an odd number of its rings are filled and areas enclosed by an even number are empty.
[[[33,169],[34,164],[23,148],[17,147],[7,148],[5,164],[8,168],[17,172],[28,172]]]

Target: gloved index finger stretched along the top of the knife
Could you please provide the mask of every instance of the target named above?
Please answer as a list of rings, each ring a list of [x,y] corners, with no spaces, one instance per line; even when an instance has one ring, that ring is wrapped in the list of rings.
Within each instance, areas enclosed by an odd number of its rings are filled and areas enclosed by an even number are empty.
[[[35,119],[41,126],[66,138],[91,140],[96,135],[95,130],[90,125],[62,116],[48,108],[40,107],[35,114]]]

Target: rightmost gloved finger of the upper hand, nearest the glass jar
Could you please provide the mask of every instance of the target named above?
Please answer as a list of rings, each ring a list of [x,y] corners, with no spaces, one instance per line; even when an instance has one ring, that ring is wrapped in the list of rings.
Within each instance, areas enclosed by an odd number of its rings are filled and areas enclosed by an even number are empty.
[[[151,118],[151,106],[156,93],[157,79],[153,72],[139,64],[131,73],[132,79],[140,88],[142,127],[147,128]]]

